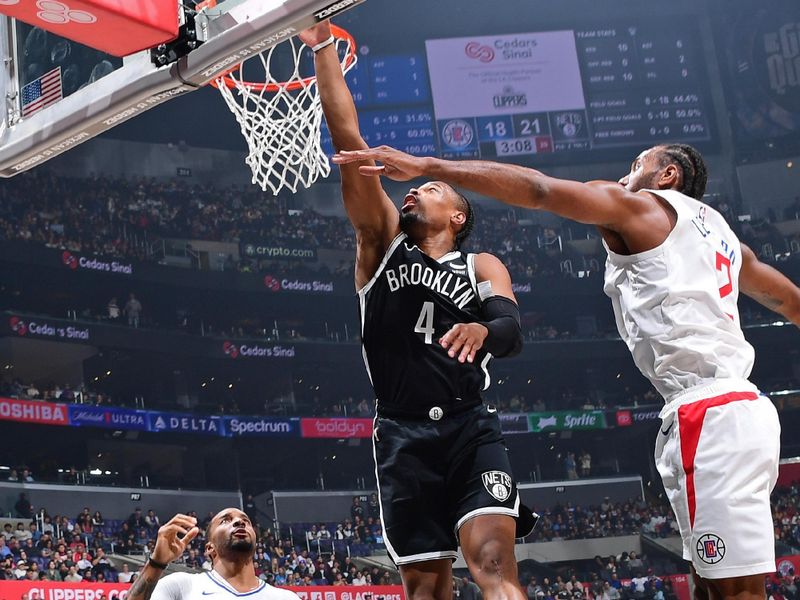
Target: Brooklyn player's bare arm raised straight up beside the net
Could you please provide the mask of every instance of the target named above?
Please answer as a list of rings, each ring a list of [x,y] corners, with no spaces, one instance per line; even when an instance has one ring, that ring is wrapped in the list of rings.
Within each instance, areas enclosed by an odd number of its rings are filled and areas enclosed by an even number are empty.
[[[324,46],[331,38],[330,23],[319,23],[299,37],[312,49],[318,48],[314,54],[317,85],[334,148],[337,151],[366,149],[353,96],[342,75],[336,44]],[[320,45],[323,47],[319,48]],[[399,213],[383,191],[380,177],[364,177],[358,173],[359,166],[374,164],[365,159],[341,166],[344,206],[358,239],[356,283],[359,287],[372,277],[389,243],[400,232]]]

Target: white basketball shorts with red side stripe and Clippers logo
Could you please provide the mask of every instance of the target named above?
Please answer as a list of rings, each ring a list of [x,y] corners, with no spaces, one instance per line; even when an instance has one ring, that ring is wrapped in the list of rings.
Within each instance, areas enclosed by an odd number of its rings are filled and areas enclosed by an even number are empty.
[[[707,579],[773,573],[778,412],[754,391],[685,400],[662,411],[655,452],[683,557]]]

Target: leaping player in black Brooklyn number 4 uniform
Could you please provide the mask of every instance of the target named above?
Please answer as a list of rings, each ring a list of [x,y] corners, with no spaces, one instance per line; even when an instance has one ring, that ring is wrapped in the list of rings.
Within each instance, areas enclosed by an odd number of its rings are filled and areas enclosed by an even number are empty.
[[[366,149],[328,23],[301,34],[315,52],[337,150]],[[362,163],[374,165],[373,162]],[[341,169],[356,231],[362,342],[377,396],[373,446],[386,547],[415,600],[452,597],[460,542],[486,600],[524,600],[520,505],[496,410],[483,405],[492,356],[519,352],[511,279],[490,254],[464,254],[469,202],[447,184],[412,188],[398,212],[380,177]]]

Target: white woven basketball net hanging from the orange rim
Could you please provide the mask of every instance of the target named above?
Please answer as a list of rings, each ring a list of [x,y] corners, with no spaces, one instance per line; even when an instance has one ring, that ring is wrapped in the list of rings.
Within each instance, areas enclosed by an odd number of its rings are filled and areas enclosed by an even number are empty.
[[[298,72],[300,56],[307,46],[295,39],[279,45],[292,48],[294,73],[287,80],[277,81],[270,73],[270,62],[277,46],[258,54],[270,89],[243,81],[241,68],[228,75],[229,81],[236,84],[236,90],[225,85],[222,77],[216,80],[217,89],[247,141],[249,151],[245,163],[253,173],[252,182],[264,191],[270,188],[276,196],[284,188],[296,192],[299,184],[308,188],[320,175],[327,177],[331,172],[320,144],[323,116],[317,80],[304,79]],[[346,73],[357,58],[350,48],[350,40],[337,38],[336,49],[339,56],[344,56],[341,64]],[[353,56],[348,64],[350,53]],[[299,83],[299,89],[288,90],[286,86],[292,83]]]

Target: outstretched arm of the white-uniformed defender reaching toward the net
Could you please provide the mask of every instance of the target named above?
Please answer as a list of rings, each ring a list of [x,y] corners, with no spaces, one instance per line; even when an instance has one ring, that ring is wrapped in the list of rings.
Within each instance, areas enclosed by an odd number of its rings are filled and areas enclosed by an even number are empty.
[[[647,227],[648,214],[659,217],[649,198],[629,192],[618,183],[556,179],[535,169],[506,163],[418,158],[388,146],[340,152],[334,162],[344,165],[365,159],[383,164],[362,165],[362,175],[379,174],[397,181],[415,177],[438,179],[506,204],[546,210],[620,233],[630,227]]]

